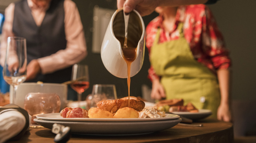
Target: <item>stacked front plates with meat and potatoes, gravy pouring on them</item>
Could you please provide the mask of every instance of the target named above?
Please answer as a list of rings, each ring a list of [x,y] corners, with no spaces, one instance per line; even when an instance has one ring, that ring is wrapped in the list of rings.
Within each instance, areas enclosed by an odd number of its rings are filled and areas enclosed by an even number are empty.
[[[136,97],[99,101],[88,111],[66,107],[60,113],[37,115],[37,124],[52,129],[54,123],[69,126],[71,132],[86,135],[138,135],[169,129],[179,122],[179,115],[144,108]]]

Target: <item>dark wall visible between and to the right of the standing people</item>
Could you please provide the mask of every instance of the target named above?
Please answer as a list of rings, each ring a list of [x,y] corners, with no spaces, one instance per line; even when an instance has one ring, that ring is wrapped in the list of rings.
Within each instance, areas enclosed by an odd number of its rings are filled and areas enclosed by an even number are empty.
[[[121,79],[110,74],[101,61],[100,54],[92,52],[92,27],[93,8],[98,5],[100,8],[117,9],[116,0],[73,0],[78,7],[81,20],[84,26],[88,56],[82,63],[90,68],[90,88],[85,91],[83,98],[92,92],[94,84],[115,84],[117,96],[127,96],[128,88],[126,79]],[[210,5],[219,28],[221,29],[226,47],[231,51],[233,62],[231,75],[232,99],[246,100],[256,99],[256,5],[255,0],[220,0],[214,5]],[[143,17],[145,26],[156,17],[153,13]],[[131,95],[142,96],[141,86],[143,84],[151,87],[151,82],[147,78],[149,68],[148,52],[145,50],[145,58],[141,71],[131,78]]]

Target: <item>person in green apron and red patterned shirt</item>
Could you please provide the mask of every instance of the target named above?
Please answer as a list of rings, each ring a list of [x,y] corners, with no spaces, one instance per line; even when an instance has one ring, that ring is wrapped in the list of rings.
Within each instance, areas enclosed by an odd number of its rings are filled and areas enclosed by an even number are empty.
[[[146,28],[151,98],[182,98],[231,121],[229,67],[223,37],[205,5],[158,7]]]

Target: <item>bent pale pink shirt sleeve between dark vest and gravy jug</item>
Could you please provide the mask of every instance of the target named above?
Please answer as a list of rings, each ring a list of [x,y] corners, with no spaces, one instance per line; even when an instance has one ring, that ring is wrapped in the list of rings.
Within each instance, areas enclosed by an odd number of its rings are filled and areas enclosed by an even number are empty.
[[[38,59],[42,74],[51,73],[80,62],[87,55],[83,25],[75,3],[64,1],[65,34],[67,47]]]

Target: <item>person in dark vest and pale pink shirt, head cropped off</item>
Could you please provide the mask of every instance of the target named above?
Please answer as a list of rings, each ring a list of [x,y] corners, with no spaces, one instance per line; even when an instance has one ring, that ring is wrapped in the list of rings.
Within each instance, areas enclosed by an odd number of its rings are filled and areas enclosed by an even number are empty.
[[[26,82],[69,81],[72,65],[87,55],[80,15],[71,0],[21,0],[11,3],[5,9],[0,47],[2,66],[9,36],[27,40]]]

